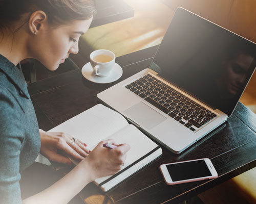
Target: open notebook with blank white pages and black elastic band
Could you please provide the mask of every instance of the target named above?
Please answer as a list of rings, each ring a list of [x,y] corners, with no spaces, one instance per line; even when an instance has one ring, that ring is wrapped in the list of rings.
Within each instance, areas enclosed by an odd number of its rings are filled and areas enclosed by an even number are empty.
[[[50,131],[66,132],[87,143],[90,150],[100,141],[109,138],[119,144],[130,144],[131,149],[127,152],[122,169],[112,176],[101,177],[94,181],[103,191],[112,189],[162,155],[160,146],[140,132],[137,127],[129,124],[121,114],[101,104],[61,123]]]

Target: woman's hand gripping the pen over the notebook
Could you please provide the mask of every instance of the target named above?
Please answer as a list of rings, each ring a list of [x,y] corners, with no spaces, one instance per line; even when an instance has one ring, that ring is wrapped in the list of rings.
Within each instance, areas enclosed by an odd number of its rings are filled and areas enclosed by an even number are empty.
[[[116,145],[114,149],[103,147],[103,143],[109,142]],[[90,153],[86,159],[83,159],[79,165],[87,163],[87,173],[90,173],[91,181],[103,176],[117,173],[126,159],[126,152],[130,149],[129,144],[116,144],[114,140],[101,141]]]

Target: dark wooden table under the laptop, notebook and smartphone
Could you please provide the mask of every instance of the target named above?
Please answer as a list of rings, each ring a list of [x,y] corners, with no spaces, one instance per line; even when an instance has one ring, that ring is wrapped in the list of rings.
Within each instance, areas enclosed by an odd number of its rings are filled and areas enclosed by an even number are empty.
[[[157,46],[121,56],[116,62],[123,75],[111,84],[95,84],[76,69],[28,86],[39,127],[45,131],[97,104],[96,94],[134,73],[148,68]],[[228,121],[180,155],[164,147],[163,155],[151,165],[104,194],[93,183],[80,196],[86,203],[178,203],[256,166],[256,115],[241,103]],[[214,180],[165,185],[160,164],[210,158],[219,177]]]

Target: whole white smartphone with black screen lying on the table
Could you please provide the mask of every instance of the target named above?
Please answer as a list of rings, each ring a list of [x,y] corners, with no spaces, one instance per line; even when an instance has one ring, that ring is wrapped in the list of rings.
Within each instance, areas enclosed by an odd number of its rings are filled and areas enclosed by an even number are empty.
[[[167,185],[214,179],[218,173],[208,158],[160,165]]]

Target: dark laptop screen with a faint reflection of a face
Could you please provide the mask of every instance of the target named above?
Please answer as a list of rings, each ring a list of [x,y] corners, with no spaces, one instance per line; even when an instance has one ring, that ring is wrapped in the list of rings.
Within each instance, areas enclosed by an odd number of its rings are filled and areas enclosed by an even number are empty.
[[[178,8],[151,69],[230,116],[255,69],[256,44]]]

